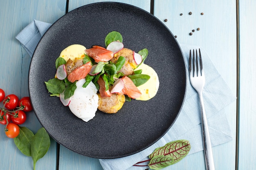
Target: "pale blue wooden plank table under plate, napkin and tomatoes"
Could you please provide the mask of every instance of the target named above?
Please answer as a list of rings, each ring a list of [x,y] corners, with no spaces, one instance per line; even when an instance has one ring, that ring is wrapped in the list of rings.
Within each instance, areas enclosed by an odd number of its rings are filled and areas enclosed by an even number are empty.
[[[31,57],[15,36],[34,19],[54,23],[77,7],[107,0],[0,0],[0,88],[6,94],[28,96]],[[216,170],[256,169],[256,1],[255,0],[108,0],[132,4],[153,13],[182,44],[201,46],[228,84],[237,102],[225,108],[232,141],[213,147]],[[192,12],[193,15],[189,15]],[[182,17],[180,14],[183,14]],[[204,15],[201,15],[204,13]],[[200,28],[200,31],[197,29]],[[193,35],[189,35],[195,29]],[[34,112],[24,124],[40,127]],[[29,170],[30,157],[22,155],[0,127],[0,169]],[[102,170],[98,159],[59,146],[53,139],[37,170]],[[187,156],[166,170],[204,170],[203,151]]]

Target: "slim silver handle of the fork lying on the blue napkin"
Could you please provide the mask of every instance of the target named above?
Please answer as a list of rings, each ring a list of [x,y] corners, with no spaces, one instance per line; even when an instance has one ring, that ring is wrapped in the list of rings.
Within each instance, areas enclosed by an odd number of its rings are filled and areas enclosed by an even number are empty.
[[[206,170],[215,170],[213,153],[211,149],[211,139],[207,123],[207,118],[204,110],[204,101],[202,92],[199,93],[200,97],[200,106],[201,106],[201,118],[202,118],[202,135],[203,135],[203,144],[204,144],[204,159]]]

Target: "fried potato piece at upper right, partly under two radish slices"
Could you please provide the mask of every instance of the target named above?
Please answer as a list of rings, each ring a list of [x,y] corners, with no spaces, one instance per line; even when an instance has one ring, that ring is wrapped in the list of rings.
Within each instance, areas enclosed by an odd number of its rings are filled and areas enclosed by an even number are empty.
[[[133,73],[133,69],[137,67],[137,64],[133,59],[133,51],[126,48],[121,49],[120,51],[114,54],[114,57],[110,61],[116,63],[120,56],[125,57],[125,63],[119,72],[124,73],[125,76],[131,75]]]

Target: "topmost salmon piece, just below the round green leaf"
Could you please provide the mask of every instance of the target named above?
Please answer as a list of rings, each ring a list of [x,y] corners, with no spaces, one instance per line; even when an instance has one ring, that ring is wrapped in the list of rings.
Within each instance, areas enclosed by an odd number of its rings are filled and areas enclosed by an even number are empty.
[[[108,62],[114,56],[112,51],[109,51],[101,46],[92,46],[91,49],[86,49],[85,53],[94,59],[95,62]]]

